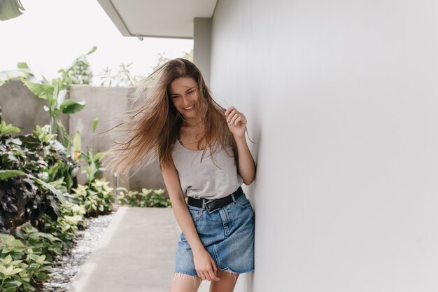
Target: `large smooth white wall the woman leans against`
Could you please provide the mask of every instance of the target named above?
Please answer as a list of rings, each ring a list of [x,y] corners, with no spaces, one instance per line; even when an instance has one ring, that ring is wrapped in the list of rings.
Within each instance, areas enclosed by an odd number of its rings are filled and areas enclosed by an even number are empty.
[[[438,291],[438,2],[219,0],[211,89],[248,118],[248,291]]]

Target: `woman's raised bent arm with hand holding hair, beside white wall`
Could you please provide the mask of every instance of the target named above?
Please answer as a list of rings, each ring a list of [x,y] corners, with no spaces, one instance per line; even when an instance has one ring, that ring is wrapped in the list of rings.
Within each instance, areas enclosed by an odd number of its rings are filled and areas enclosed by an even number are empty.
[[[243,183],[248,186],[255,179],[255,162],[246,143],[246,118],[234,106],[225,111],[225,118],[227,119],[229,131],[232,132],[234,140],[236,140],[237,169]]]

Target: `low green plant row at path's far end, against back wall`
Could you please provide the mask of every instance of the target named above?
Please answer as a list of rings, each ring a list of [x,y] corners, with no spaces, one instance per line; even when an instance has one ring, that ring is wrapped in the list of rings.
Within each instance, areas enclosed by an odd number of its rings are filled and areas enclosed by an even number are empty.
[[[129,207],[171,207],[169,199],[164,198],[164,190],[153,190],[152,188],[143,188],[141,192],[136,190],[127,190],[118,188],[119,204]]]

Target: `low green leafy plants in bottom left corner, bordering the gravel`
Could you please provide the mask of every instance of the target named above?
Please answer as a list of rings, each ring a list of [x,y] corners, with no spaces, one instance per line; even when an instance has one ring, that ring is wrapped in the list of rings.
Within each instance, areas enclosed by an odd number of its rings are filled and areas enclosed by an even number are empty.
[[[26,223],[0,234],[0,291],[34,291],[36,283],[49,279],[52,258],[71,248],[78,229],[85,228],[85,209],[67,202],[57,221],[45,215],[45,232]],[[10,290],[8,290],[10,289]]]

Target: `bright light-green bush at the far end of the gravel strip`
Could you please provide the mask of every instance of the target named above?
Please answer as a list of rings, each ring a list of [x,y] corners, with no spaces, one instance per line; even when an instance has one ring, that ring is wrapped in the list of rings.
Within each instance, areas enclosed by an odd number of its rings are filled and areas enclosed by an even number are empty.
[[[98,216],[113,211],[113,188],[105,179],[94,179],[90,186],[79,185],[73,191],[81,206],[85,208],[86,216]]]

